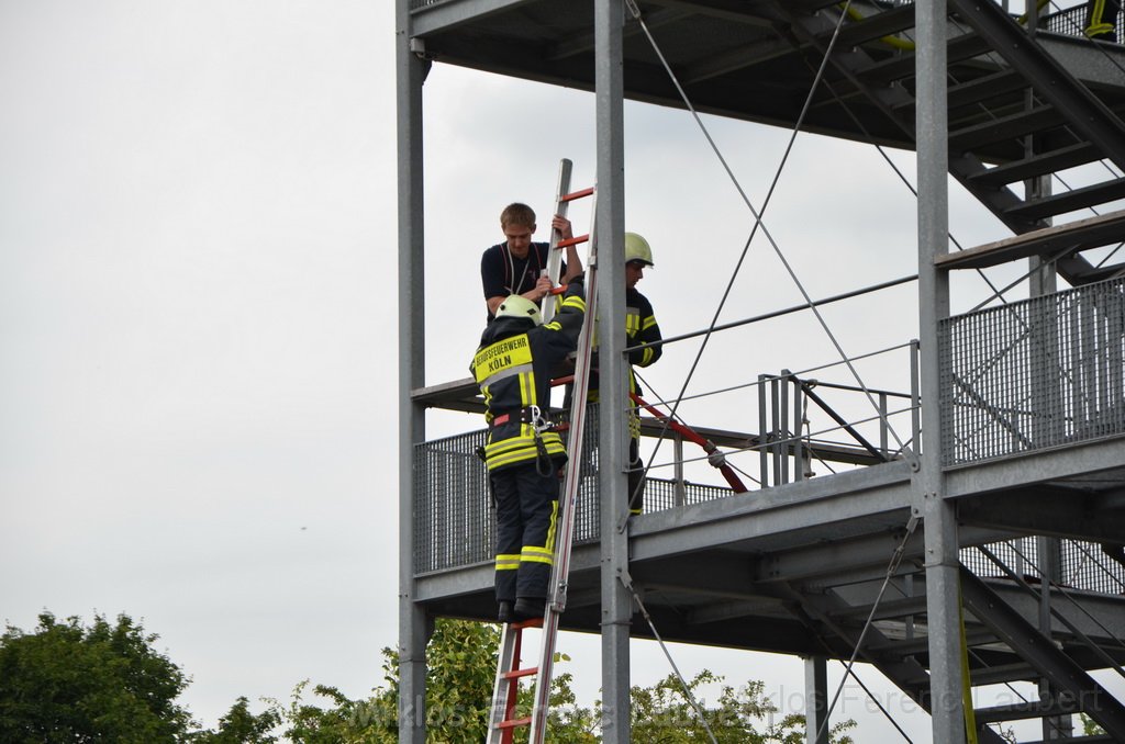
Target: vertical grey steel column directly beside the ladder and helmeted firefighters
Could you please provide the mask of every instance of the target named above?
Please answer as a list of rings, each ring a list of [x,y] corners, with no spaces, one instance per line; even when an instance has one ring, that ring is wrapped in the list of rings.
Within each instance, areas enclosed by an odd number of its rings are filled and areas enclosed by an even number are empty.
[[[602,495],[602,741],[628,744],[629,636],[632,597],[628,580],[629,534],[621,529],[629,514],[629,432],[626,409],[624,343],[624,76],[622,66],[622,0],[594,3],[594,96],[597,123],[597,272],[601,334]]]

